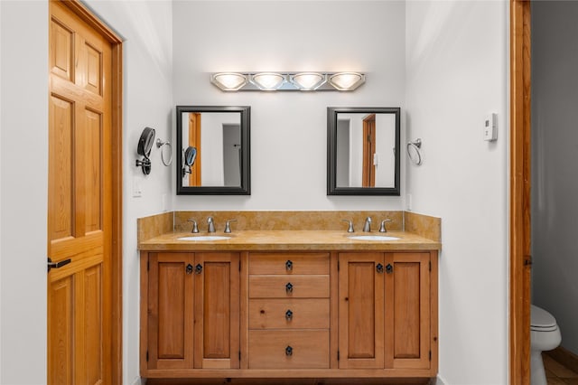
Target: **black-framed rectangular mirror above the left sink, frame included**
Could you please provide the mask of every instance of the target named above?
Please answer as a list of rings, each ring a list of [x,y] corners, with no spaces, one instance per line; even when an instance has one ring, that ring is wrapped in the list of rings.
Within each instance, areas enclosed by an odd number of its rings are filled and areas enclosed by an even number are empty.
[[[177,194],[249,195],[250,107],[177,106]]]

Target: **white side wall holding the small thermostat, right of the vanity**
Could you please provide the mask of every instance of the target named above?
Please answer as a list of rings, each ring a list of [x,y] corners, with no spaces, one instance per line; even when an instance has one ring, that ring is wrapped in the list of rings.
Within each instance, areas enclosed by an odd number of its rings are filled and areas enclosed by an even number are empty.
[[[440,377],[508,383],[508,2],[406,3],[413,210],[442,218]],[[484,115],[499,139],[482,140]]]

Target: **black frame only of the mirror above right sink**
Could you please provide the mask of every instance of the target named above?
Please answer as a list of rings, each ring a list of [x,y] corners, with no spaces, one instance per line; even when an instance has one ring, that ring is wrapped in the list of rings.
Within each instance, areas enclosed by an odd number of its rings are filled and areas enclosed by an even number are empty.
[[[337,117],[338,114],[394,114],[396,117],[396,156],[393,187],[340,187],[337,186]],[[393,195],[399,196],[400,174],[400,108],[398,107],[344,107],[327,108],[327,195]]]

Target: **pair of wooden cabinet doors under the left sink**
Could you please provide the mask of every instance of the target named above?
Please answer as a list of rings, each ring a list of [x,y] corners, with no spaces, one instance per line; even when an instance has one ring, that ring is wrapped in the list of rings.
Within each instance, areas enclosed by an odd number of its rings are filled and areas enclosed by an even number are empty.
[[[239,367],[239,254],[141,258],[141,372]]]

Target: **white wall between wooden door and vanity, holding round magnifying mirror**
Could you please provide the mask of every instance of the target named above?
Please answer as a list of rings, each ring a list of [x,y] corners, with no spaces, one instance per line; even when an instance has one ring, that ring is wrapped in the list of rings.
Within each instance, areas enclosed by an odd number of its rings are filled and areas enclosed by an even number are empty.
[[[156,138],[172,142],[172,5],[168,1],[98,0],[87,4],[124,40],[123,382],[132,384],[139,372],[136,219],[172,210],[173,168],[163,166],[156,144],[151,174],[144,176],[135,167],[136,145],[144,127],[153,127]],[[135,181],[141,184],[142,197],[133,197]]]

